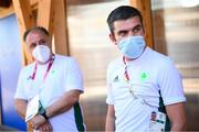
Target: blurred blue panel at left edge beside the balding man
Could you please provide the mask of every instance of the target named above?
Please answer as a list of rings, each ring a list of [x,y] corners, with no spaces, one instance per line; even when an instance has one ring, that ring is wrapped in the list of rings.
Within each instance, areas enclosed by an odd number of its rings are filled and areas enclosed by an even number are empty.
[[[2,124],[25,130],[25,124],[14,109],[13,96],[21,69],[20,32],[15,15],[0,19],[0,90]]]

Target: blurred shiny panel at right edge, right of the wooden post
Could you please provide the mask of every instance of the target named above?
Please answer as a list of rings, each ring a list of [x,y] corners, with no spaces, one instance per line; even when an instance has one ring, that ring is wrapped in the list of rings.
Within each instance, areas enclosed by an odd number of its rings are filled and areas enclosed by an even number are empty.
[[[199,130],[199,1],[151,0],[155,48],[181,72],[188,129]]]

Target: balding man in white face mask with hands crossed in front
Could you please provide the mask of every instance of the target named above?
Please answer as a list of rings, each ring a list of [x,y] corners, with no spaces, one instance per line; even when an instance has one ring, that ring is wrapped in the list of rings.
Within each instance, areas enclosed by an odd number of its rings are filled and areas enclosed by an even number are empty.
[[[76,61],[52,53],[51,37],[44,28],[28,30],[23,38],[34,63],[20,73],[14,96],[17,111],[34,130],[84,131],[78,103],[84,91],[83,77]],[[36,114],[25,117],[29,108],[34,111],[38,105]]]

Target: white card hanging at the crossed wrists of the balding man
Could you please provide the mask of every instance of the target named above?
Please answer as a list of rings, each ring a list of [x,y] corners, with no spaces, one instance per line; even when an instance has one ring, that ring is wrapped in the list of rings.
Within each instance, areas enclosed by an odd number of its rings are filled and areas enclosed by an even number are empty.
[[[38,95],[28,102],[25,122],[31,120],[38,113],[39,108],[40,108],[40,97]]]

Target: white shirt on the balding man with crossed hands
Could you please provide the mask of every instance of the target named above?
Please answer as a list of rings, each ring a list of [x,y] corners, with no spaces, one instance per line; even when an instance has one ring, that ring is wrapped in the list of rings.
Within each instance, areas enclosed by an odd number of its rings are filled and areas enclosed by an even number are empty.
[[[18,88],[15,91],[15,99],[24,99],[30,101],[36,95],[44,108],[55,102],[65,91],[78,89],[84,91],[82,72],[72,57],[55,55],[55,59],[46,75],[43,82],[44,74],[46,73],[49,63],[45,65],[38,65],[35,78],[31,79],[35,63],[24,67],[19,76]],[[71,108],[69,111],[53,117],[50,122],[53,131],[77,131],[75,117],[75,109]],[[82,116],[82,111],[78,111]]]

